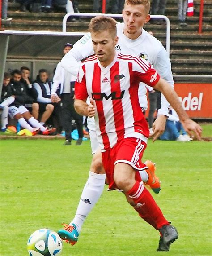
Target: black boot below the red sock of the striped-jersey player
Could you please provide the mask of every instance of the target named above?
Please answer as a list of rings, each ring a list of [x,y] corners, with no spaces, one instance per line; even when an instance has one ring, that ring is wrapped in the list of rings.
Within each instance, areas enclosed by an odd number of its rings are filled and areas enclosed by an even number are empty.
[[[164,225],[159,231],[165,246],[169,247],[171,243],[178,239],[178,231],[173,225]]]

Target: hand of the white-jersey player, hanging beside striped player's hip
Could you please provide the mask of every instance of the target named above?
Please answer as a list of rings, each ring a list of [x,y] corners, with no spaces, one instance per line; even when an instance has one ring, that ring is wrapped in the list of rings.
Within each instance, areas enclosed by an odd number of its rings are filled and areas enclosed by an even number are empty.
[[[153,138],[153,142],[164,133],[166,119],[167,117],[165,115],[158,115],[157,119],[154,121],[153,133],[149,134],[149,137]]]

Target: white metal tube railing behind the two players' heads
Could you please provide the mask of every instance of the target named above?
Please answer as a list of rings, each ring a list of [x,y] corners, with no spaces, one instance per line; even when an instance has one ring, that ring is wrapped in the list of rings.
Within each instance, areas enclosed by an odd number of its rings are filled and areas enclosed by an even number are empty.
[[[102,13],[67,13],[64,18],[63,18],[63,32],[66,32],[67,30],[67,20],[68,17],[70,16],[76,16],[76,17],[95,17],[99,15],[104,15],[104,16],[109,16],[112,18],[122,18],[122,14],[112,14],[112,13],[107,13],[107,14],[102,14]],[[171,31],[171,26],[170,26],[170,20],[167,18],[165,15],[150,15],[151,19],[163,19],[166,22],[166,51],[168,55],[170,56],[170,31]],[[85,35],[85,33],[82,32],[82,35]]]

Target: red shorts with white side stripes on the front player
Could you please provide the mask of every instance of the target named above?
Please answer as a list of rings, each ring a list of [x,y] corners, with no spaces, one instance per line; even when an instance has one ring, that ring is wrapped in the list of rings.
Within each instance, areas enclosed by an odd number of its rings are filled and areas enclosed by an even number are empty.
[[[136,171],[147,169],[141,162],[146,143],[138,138],[126,138],[119,141],[112,149],[102,152],[102,162],[106,171],[109,188],[118,188],[114,182],[114,165],[127,163]],[[140,173],[136,172],[136,181],[141,181]]]

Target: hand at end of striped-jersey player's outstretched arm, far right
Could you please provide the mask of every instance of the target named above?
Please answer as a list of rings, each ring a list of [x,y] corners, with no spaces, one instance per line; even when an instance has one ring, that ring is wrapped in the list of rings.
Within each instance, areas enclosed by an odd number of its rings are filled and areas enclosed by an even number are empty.
[[[195,121],[191,120],[190,118],[186,119],[185,121],[182,121],[182,120],[180,121],[185,131],[190,135],[190,137],[192,138],[196,137],[199,141],[201,140],[203,129],[199,124],[197,124]]]

